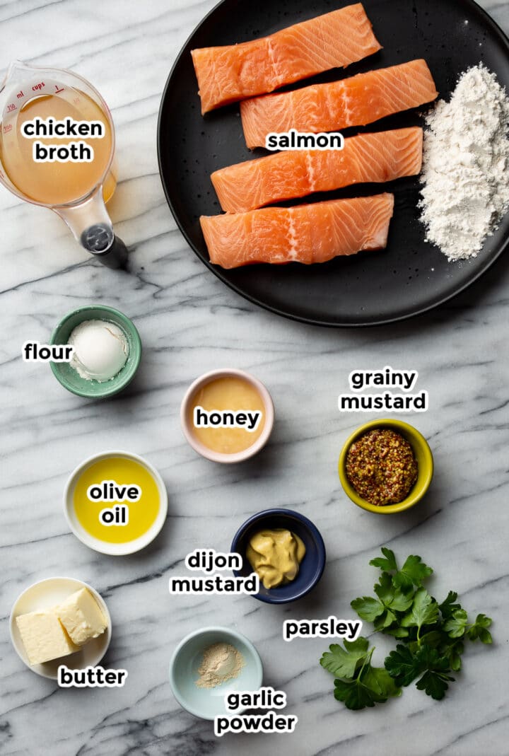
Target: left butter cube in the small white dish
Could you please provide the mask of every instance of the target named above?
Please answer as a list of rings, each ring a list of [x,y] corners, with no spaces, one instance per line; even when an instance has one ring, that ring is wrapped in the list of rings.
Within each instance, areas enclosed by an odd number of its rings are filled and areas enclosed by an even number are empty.
[[[16,624],[30,665],[44,664],[79,651],[79,646],[72,643],[51,609],[19,615]]]

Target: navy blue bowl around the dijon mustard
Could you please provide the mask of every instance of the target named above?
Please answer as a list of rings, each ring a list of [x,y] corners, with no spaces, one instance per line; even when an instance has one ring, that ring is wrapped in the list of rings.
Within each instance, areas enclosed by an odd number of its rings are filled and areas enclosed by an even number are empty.
[[[292,510],[264,510],[253,515],[236,531],[231,551],[242,556],[242,570],[233,571],[233,575],[245,577],[253,572],[245,556],[250,538],[261,530],[286,528],[298,535],[304,542],[306,554],[301,562],[297,577],[291,583],[276,588],[264,588],[260,584],[259,593],[254,598],[268,604],[285,604],[296,601],[309,593],[322,577],[325,568],[325,544],[313,522]]]

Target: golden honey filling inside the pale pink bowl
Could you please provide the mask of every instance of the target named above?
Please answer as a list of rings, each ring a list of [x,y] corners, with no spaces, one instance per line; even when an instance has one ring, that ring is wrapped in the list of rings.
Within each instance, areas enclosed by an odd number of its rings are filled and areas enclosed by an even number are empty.
[[[218,376],[200,386],[188,413],[196,440],[217,454],[237,454],[250,448],[266,422],[260,392],[235,375]]]

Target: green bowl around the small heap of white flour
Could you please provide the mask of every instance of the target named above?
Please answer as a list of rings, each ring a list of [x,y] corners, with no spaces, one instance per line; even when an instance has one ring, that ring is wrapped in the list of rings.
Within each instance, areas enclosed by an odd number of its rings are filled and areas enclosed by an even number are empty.
[[[51,344],[66,344],[72,331],[84,321],[108,321],[122,329],[127,336],[129,355],[124,367],[114,378],[103,383],[85,380],[68,362],[51,362],[51,370],[64,389],[85,398],[106,398],[118,394],[134,378],[141,359],[141,340],[134,323],[125,314],[106,305],[88,305],[68,312],[51,334]]]

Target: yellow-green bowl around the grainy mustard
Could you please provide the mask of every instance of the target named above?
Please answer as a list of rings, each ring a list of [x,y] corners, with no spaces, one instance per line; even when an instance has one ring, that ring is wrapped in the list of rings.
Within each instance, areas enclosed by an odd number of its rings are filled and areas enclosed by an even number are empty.
[[[406,441],[411,445],[415,459],[417,460],[417,480],[406,499],[399,501],[397,504],[387,504],[386,506],[378,507],[375,504],[370,504],[369,501],[362,499],[356,493],[347,478],[347,454],[350,446],[361,435],[375,428],[387,428],[403,435],[403,438],[406,438]],[[350,435],[350,438],[347,439],[339,457],[338,470],[339,479],[341,480],[345,494],[357,507],[362,507],[363,510],[368,510],[368,512],[376,512],[379,515],[392,515],[396,512],[409,510],[410,507],[413,507],[424,496],[433,478],[433,455],[424,436],[413,426],[409,425],[409,423],[403,423],[401,420],[372,420],[371,423],[364,423],[364,425],[357,428]]]

